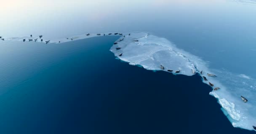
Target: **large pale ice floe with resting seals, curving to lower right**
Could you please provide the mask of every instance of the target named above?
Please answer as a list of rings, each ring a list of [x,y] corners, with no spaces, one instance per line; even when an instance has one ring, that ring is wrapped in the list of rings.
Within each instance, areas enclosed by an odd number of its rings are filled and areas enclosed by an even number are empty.
[[[120,41],[121,39],[121,41]],[[147,70],[173,70],[173,74],[194,75],[194,72],[203,70],[202,77],[211,82],[213,90],[210,95],[218,99],[222,106],[221,110],[227,116],[234,127],[253,130],[256,125],[256,84],[255,80],[244,74],[233,74],[227,70],[211,70],[206,62],[199,57],[178,49],[174,44],[165,38],[160,38],[148,33],[131,33],[120,37],[113,44],[110,51],[119,59],[131,65],[139,65]],[[123,40],[122,40],[123,39]],[[138,40],[138,41],[136,41]],[[121,49],[116,49],[120,47]],[[122,54],[121,56],[119,56]],[[176,71],[181,70],[179,73]],[[217,75],[208,76],[207,73]],[[240,95],[248,99],[244,103]]]

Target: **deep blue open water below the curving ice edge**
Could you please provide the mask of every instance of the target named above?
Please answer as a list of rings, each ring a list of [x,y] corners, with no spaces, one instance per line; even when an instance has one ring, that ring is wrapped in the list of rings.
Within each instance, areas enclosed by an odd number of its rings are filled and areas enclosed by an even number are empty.
[[[1,43],[1,134],[255,134],[234,128],[192,77],[115,59],[117,36]],[[2,51],[5,52],[5,51]]]

